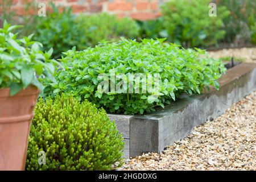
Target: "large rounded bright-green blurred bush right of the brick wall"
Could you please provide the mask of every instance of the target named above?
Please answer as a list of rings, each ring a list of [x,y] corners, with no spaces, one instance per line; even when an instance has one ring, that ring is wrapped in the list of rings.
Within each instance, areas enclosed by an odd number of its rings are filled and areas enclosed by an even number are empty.
[[[222,19],[229,12],[218,6],[217,16],[210,17],[209,0],[172,0],[162,6],[168,40],[184,47],[205,47],[225,36]]]

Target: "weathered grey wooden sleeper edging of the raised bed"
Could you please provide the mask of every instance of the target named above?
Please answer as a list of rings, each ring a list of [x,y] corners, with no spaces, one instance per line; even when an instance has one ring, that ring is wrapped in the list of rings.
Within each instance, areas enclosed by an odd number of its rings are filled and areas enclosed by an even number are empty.
[[[159,152],[186,137],[193,127],[218,117],[232,104],[256,89],[256,64],[242,63],[229,69],[218,82],[220,89],[183,95],[179,100],[144,115],[108,114],[125,139],[125,157]]]

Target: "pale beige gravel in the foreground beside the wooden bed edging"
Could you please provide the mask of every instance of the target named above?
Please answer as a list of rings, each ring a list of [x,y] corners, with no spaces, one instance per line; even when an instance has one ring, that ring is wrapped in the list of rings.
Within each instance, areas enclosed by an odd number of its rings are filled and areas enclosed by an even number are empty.
[[[196,127],[162,154],[127,159],[122,170],[256,170],[256,91]]]

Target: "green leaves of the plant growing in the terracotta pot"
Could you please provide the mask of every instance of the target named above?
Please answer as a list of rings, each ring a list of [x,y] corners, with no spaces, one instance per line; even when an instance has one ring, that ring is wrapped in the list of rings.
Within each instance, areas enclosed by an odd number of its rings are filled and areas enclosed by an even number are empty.
[[[12,33],[18,27],[5,21],[0,29],[0,88],[10,87],[11,96],[28,85],[43,89],[36,75],[53,81],[55,73],[55,60],[50,59],[52,49],[40,51],[42,44],[32,41],[32,35],[18,39],[18,35]]]

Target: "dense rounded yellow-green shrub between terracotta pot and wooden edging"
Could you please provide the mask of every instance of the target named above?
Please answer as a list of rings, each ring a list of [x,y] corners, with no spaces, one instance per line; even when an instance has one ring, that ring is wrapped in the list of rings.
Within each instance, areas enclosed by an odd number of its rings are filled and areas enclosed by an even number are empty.
[[[115,123],[88,101],[57,96],[36,104],[27,151],[27,170],[106,170],[122,160]],[[46,164],[38,164],[39,151]]]

